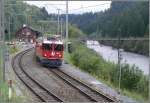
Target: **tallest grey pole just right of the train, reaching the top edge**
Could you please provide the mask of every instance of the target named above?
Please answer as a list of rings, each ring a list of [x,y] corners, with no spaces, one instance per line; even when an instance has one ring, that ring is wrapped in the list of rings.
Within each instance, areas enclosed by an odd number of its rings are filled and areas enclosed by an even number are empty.
[[[66,0],[66,52],[68,52],[68,0]]]

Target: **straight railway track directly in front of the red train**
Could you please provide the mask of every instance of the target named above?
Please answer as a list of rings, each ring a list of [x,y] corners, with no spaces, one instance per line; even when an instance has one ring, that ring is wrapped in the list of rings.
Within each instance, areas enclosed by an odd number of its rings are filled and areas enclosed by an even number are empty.
[[[64,82],[68,83],[72,87],[79,90],[82,94],[86,95],[88,98],[90,98],[94,102],[114,102],[115,100],[113,98],[110,98],[93,88],[89,87],[88,85],[84,84],[83,82],[73,78],[72,76],[66,74],[60,69],[52,69],[50,68],[50,71],[53,72],[55,75],[57,75],[60,79],[64,80]]]

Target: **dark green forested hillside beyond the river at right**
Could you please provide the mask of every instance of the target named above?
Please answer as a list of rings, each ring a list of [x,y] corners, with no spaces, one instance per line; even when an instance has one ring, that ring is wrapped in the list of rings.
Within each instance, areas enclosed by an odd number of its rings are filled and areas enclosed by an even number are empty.
[[[71,14],[69,21],[87,34],[116,37],[120,28],[122,37],[143,37],[148,35],[148,8],[148,1],[113,1],[104,12]]]

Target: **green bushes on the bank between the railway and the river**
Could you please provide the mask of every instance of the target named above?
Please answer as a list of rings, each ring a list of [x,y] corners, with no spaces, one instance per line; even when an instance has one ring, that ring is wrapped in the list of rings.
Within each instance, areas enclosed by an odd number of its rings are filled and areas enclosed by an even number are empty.
[[[88,72],[107,85],[118,88],[119,69],[117,64],[105,61],[102,56],[89,49],[84,43],[72,42],[69,63]],[[122,64],[121,93],[136,100],[148,99],[148,76],[136,66]]]

